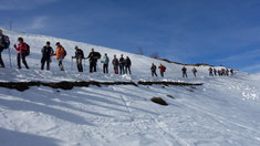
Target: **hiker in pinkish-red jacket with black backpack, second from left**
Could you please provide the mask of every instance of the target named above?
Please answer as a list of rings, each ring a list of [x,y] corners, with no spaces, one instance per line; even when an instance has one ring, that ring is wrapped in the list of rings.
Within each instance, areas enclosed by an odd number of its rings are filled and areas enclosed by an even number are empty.
[[[21,69],[21,58],[22,58],[22,63],[24,64],[24,66],[27,69],[29,69],[28,64],[27,64],[27,51],[29,51],[29,45],[23,42],[22,38],[18,38],[19,44],[17,46],[17,44],[13,45],[13,48],[18,51],[18,56],[17,56],[17,62],[18,62],[18,69]]]

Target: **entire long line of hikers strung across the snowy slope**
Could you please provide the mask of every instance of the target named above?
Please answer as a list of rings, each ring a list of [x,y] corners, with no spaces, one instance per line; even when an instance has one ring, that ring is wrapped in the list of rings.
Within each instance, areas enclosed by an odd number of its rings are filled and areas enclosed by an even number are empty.
[[[21,60],[24,66],[29,69],[25,58],[30,54],[30,45],[27,44],[22,38],[18,38],[18,42],[19,42],[18,45],[17,44],[13,45],[13,48],[18,51],[18,55],[17,55],[18,69],[21,69]],[[4,67],[4,63],[1,58],[1,52],[4,49],[8,49],[9,45],[10,45],[9,38],[7,35],[3,35],[2,30],[0,29],[0,67]],[[59,61],[60,70],[64,71],[64,66],[62,62],[64,58],[66,56],[66,51],[61,45],[60,42],[56,42],[55,45],[56,45],[55,52],[53,51],[51,43],[49,41],[42,48],[41,70],[44,70],[45,64],[46,64],[46,70],[50,70],[51,56],[56,56],[56,60]],[[73,59],[76,60],[76,66],[77,66],[79,72],[83,72],[83,65],[82,65],[83,60],[90,61],[90,73],[96,72],[97,60],[101,59],[101,63],[103,64],[103,72],[105,74],[108,74],[110,58],[107,56],[106,53],[103,55],[103,58],[101,58],[101,54],[98,52],[95,52],[94,49],[91,49],[89,56],[85,58],[84,52],[81,49],[79,49],[77,45],[74,49],[75,49],[75,55],[71,56],[71,59],[72,59],[72,63],[73,63]],[[9,59],[10,59],[10,50],[9,50]],[[112,60],[112,64],[114,66],[113,69],[114,69],[115,74],[127,74],[127,73],[132,74],[131,72],[132,62],[128,56],[124,59],[124,55],[121,54],[121,58],[118,60],[116,55],[114,55],[114,59]],[[152,76],[157,76],[156,69],[157,66],[154,63],[152,63],[152,66],[150,66]],[[166,72],[166,66],[160,64],[158,69],[160,72],[160,76],[164,77],[164,73]],[[209,76],[217,76],[217,75],[228,76],[229,73],[231,75],[233,74],[233,70],[228,70],[228,69],[216,70],[214,67],[209,67],[208,71],[209,71]],[[183,77],[188,77],[187,69],[185,66],[181,69],[181,72],[183,72]],[[191,72],[194,76],[196,77],[196,74],[197,74],[196,67],[194,67]]]

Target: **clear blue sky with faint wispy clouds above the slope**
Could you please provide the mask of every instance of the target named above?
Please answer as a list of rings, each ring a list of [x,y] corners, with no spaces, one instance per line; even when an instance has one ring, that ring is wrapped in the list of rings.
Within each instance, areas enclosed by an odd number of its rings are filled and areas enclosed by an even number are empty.
[[[0,0],[0,25],[260,72],[259,0]],[[22,3],[22,4],[21,4]]]

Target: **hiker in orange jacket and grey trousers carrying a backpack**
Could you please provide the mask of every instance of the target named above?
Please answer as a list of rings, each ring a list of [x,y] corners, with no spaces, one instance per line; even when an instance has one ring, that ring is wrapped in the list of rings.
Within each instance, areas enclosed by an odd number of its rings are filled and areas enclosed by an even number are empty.
[[[61,71],[64,71],[64,66],[62,64],[64,58],[66,56],[66,51],[65,49],[61,45],[60,42],[56,42],[56,51],[53,54],[56,56],[56,60],[59,61],[59,67]]]

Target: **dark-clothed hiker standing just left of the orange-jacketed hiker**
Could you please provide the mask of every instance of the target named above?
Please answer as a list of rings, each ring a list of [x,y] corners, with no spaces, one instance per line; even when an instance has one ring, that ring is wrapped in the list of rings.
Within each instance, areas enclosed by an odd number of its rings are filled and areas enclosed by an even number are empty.
[[[50,70],[51,54],[54,53],[51,43],[46,42],[46,45],[42,48],[42,59],[41,59],[41,70],[44,70],[44,64],[46,62],[46,70]]]

